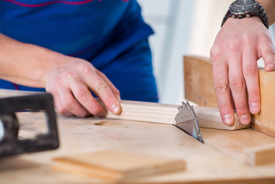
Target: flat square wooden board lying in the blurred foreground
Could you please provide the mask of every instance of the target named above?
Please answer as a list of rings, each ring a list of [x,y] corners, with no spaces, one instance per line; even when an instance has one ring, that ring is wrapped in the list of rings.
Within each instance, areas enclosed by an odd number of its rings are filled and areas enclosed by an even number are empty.
[[[184,171],[184,160],[107,150],[54,158],[53,169],[108,181]]]

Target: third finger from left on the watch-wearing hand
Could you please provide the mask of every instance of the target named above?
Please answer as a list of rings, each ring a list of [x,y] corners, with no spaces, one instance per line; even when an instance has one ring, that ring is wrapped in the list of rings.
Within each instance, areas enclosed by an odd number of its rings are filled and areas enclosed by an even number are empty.
[[[255,51],[256,48],[246,48],[242,55],[243,76],[248,93],[249,110],[253,114],[257,114],[261,110],[259,71]]]

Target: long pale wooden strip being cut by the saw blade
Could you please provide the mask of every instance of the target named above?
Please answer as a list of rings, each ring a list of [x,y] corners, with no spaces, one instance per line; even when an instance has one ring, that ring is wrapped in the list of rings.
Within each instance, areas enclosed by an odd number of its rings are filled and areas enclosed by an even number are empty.
[[[102,104],[102,102],[99,101]],[[115,115],[108,111],[106,118],[144,121],[152,123],[176,124],[174,118],[179,112],[180,105],[169,105],[152,102],[138,102],[138,101],[120,101],[122,112]],[[194,107],[196,116],[200,127],[215,128],[222,130],[238,130],[247,128],[250,125],[242,125],[239,121],[237,113],[235,113],[235,122],[232,126],[224,125],[218,108],[210,107]]]

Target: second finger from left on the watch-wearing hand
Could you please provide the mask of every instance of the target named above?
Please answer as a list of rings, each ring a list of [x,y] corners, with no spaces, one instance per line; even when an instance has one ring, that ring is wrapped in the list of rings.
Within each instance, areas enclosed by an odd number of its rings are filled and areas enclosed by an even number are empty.
[[[234,53],[234,52],[233,52]],[[242,72],[242,56],[235,52],[229,59],[229,84],[241,124],[251,122],[246,98],[246,86]]]

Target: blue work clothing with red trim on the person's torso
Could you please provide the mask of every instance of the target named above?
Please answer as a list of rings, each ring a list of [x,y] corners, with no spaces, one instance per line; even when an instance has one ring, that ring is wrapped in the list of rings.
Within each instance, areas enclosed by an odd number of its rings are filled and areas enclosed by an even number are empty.
[[[0,33],[90,61],[116,85],[122,99],[157,101],[147,42],[153,30],[140,12],[134,0],[2,0]],[[0,81],[1,88],[14,86]]]

